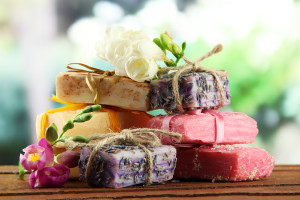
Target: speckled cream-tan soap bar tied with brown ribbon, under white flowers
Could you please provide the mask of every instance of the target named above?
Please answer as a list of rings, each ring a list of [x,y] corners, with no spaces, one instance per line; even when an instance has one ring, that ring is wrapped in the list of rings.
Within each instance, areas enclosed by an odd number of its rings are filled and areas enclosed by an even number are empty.
[[[60,72],[56,77],[56,96],[70,103],[93,103],[95,94],[89,89],[86,73]],[[100,75],[93,74],[99,83]],[[100,103],[128,110],[147,111],[150,109],[150,84],[136,82],[130,78],[106,76],[99,84]]]

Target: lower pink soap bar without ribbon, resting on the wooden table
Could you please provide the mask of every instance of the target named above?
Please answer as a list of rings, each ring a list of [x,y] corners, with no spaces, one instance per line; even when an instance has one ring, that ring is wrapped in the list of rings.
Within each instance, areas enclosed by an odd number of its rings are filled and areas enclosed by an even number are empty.
[[[174,178],[245,181],[270,176],[275,161],[265,150],[232,145],[177,148]]]

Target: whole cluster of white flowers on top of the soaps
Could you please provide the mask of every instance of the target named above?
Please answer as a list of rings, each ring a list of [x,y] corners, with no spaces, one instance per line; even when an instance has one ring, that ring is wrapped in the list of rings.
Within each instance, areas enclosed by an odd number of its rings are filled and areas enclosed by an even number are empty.
[[[114,26],[107,28],[105,33],[105,37],[96,43],[97,56],[110,62],[116,75],[139,82],[151,80],[158,71],[156,61],[168,60],[144,31]]]

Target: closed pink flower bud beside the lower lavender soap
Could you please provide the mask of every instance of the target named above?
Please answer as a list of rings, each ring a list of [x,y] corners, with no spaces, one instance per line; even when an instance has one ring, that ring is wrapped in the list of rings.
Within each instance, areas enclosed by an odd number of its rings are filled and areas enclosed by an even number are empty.
[[[65,151],[65,152],[57,155],[55,162],[66,165],[70,168],[73,168],[73,167],[78,166],[79,158],[80,158],[79,152]]]

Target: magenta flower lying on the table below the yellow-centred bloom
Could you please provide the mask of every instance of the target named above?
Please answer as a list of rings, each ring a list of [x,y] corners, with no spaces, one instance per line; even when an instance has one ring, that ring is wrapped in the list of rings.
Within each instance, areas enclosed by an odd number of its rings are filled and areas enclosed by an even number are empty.
[[[68,180],[69,174],[70,169],[61,164],[45,167],[30,174],[29,184],[32,188],[60,187]]]

